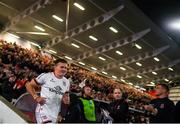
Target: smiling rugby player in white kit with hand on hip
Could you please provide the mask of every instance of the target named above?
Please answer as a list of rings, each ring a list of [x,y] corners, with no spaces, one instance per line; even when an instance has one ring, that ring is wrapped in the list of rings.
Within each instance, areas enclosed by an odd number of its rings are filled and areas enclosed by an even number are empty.
[[[61,101],[65,92],[69,91],[69,81],[64,77],[67,72],[67,62],[62,59],[55,61],[54,72],[42,73],[27,83],[27,91],[38,103],[36,121],[42,123],[56,123]],[[41,87],[40,96],[35,89]]]

